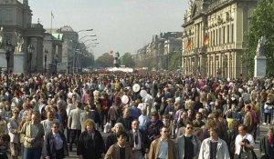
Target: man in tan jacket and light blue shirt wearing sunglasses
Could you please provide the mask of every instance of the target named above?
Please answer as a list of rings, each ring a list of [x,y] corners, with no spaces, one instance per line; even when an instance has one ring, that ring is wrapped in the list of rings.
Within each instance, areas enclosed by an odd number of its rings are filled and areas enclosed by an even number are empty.
[[[160,129],[161,137],[153,141],[148,154],[149,159],[176,159],[176,148],[174,141],[168,137],[169,129],[163,126]]]

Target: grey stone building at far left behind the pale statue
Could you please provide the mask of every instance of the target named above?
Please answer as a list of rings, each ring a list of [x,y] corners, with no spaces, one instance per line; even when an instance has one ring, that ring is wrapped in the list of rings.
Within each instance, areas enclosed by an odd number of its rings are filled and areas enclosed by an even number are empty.
[[[32,24],[32,11],[28,5],[27,0],[0,0],[0,27],[3,27],[4,42],[9,41],[15,48],[15,53],[10,57],[9,68],[11,71],[15,67],[22,68],[22,72],[44,70],[43,65],[43,39],[45,36],[45,29],[43,25],[37,23]],[[27,46],[33,45],[34,52],[29,54]],[[19,47],[20,46],[20,47]],[[5,60],[5,50],[0,51],[1,65]],[[3,56],[4,55],[4,56]],[[19,58],[20,62],[14,62],[16,56],[22,55]],[[31,65],[29,65],[31,64]],[[21,72],[21,71],[20,71]]]

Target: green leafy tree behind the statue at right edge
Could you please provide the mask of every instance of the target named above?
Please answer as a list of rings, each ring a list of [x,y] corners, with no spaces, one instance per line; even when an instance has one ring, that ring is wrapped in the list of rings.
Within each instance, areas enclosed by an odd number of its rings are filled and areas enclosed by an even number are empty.
[[[258,46],[258,39],[266,36],[264,55],[267,57],[267,75],[274,75],[274,3],[273,0],[259,0],[257,8],[250,18],[247,50],[243,55],[243,62],[247,62],[248,75],[254,75],[254,57]]]

